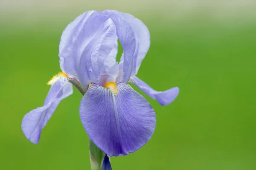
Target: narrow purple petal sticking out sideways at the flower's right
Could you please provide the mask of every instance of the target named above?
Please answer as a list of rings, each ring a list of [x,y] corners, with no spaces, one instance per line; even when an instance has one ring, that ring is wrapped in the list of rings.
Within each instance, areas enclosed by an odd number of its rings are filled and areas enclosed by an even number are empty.
[[[178,87],[170,88],[167,91],[155,91],[141,79],[135,76],[131,77],[129,82],[136,85],[138,88],[140,88],[141,91],[150,96],[152,99],[156,99],[160,105],[169,105],[176,99],[179,94]]]

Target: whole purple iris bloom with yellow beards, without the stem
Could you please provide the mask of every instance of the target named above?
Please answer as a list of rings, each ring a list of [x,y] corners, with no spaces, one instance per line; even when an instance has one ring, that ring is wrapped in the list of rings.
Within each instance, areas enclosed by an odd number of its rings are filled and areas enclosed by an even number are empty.
[[[123,54],[116,62],[117,40]],[[84,94],[79,113],[94,144],[109,156],[127,155],[142,147],[154,133],[156,116],[148,101],[134,91],[133,83],[160,105],[168,105],[179,88],[155,91],[136,77],[150,45],[148,28],[131,14],[87,11],[61,35],[62,72],[48,82],[52,87],[44,105],[22,120],[26,138],[37,144],[62,99],[73,93],[72,84]]]

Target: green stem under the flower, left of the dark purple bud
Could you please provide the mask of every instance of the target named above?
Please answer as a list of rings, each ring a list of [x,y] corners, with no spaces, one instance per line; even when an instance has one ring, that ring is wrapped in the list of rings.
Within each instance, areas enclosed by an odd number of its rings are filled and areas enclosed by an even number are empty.
[[[102,152],[90,139],[89,139],[89,153],[90,163],[92,170],[102,170],[102,162],[105,153]]]

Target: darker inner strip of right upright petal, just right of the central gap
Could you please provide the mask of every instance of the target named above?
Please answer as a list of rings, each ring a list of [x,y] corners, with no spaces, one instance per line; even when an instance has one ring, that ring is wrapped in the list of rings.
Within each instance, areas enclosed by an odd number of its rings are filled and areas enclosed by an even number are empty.
[[[103,11],[116,25],[116,34],[124,51],[123,75],[120,82],[126,83],[131,77],[133,59],[136,53],[136,37],[131,25],[122,19],[118,11]]]

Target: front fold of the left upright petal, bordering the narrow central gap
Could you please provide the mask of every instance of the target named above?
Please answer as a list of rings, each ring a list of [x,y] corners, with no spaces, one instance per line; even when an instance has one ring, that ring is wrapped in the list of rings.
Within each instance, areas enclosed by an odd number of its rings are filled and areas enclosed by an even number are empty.
[[[116,27],[113,21],[100,11],[95,11],[82,26],[76,51],[79,58],[78,76],[83,87],[89,82],[99,84],[99,73],[105,59],[114,48]]]

